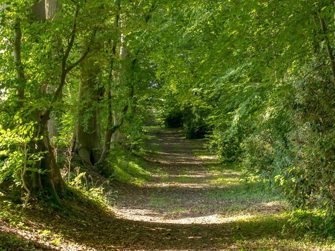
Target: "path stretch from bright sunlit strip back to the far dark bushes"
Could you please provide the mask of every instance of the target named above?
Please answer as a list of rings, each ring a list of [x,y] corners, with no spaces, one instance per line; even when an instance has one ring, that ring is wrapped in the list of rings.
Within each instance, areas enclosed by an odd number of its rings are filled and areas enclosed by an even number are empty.
[[[186,140],[180,129],[151,128],[147,136],[146,168],[153,180],[143,187],[118,187],[114,212],[119,217],[157,223],[219,224],[234,221],[238,215],[282,210],[278,201],[261,198],[259,191],[247,191],[241,173],[234,166],[223,167],[215,156],[208,155],[204,140]]]

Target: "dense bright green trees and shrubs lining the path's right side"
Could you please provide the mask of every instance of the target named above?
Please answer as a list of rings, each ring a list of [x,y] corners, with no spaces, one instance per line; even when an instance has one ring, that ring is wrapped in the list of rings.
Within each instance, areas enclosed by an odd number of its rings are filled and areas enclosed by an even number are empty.
[[[167,106],[190,107],[188,137],[205,125],[222,161],[241,161],[296,206],[332,209],[333,2],[175,7],[161,31],[178,42],[161,45],[169,58],[156,58],[156,76]]]

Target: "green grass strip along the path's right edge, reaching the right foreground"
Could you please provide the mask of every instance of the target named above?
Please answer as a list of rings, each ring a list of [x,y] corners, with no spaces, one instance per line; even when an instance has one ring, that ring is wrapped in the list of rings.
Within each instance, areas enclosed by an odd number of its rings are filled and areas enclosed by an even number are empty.
[[[285,234],[292,234],[306,243],[306,249],[301,250],[310,250],[308,248],[311,244],[310,236],[314,236],[316,240],[319,239],[321,243],[327,243],[326,250],[329,249],[328,244],[334,248],[335,224],[334,218],[327,216],[329,212],[293,209],[282,194],[271,188],[269,182],[258,180],[257,177],[247,180],[242,175],[243,167],[240,163],[220,163],[205,149],[194,150],[193,153],[205,159],[208,170],[216,175],[209,182],[215,184],[217,188],[207,190],[204,198],[223,202],[222,212],[232,215],[232,228],[238,229],[233,235],[237,245],[238,243],[245,245],[243,240],[238,239],[254,236],[258,241],[257,244],[255,242],[252,244],[255,247],[250,248],[251,250],[256,249],[256,246],[257,250],[264,251],[277,250],[281,246],[283,250],[288,247],[287,250],[297,250],[296,240],[280,240]],[[260,207],[263,207],[265,212],[254,213],[260,210]],[[285,210],[271,212],[271,209],[278,207]],[[282,235],[273,235],[274,232]],[[273,245],[270,245],[271,242]],[[279,248],[279,250],[282,249]]]

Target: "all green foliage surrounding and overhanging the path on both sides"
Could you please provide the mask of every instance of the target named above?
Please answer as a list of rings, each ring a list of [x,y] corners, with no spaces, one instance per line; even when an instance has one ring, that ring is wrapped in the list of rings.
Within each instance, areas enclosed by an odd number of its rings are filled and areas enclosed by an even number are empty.
[[[127,151],[165,120],[293,205],[334,209],[333,1],[60,2],[44,22],[35,0],[0,4],[0,183],[51,169],[45,150],[70,153],[80,126],[97,135],[91,159],[117,126],[105,175],[142,184]],[[36,152],[49,117],[57,133]]]

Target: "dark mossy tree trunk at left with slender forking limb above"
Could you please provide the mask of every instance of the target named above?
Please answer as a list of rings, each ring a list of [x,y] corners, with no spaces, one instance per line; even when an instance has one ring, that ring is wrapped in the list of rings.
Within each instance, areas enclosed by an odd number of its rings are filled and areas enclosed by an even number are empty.
[[[43,6],[42,4],[39,6]],[[44,7],[44,6],[43,6]],[[91,34],[91,39],[89,42],[87,42],[87,46],[85,50],[82,52],[81,56],[75,61],[74,63],[68,62],[68,58],[70,55],[70,52],[74,46],[76,32],[77,32],[77,16],[79,12],[79,5],[76,6],[76,9],[74,11],[73,16],[73,24],[72,29],[69,32],[69,40],[67,43],[66,48],[64,48],[64,53],[61,58],[60,63],[60,70],[59,70],[59,78],[58,83],[56,85],[56,88],[54,92],[52,93],[52,99],[51,103],[56,102],[59,100],[59,98],[62,95],[63,87],[66,84],[66,76],[67,74],[77,67],[88,55],[91,45],[93,44],[93,41],[95,39],[95,30]],[[15,28],[16,39],[17,39],[17,48],[14,48],[14,53],[21,53],[21,26],[20,22],[18,20],[17,26]],[[15,59],[16,58],[16,59]],[[19,64],[20,56],[15,56],[14,59]],[[21,65],[22,66],[22,65]],[[22,73],[24,73],[24,69],[22,67]],[[20,74],[20,76],[24,76]],[[25,79],[26,80],[26,79]],[[41,96],[45,95],[46,92],[41,89]],[[20,97],[24,98],[24,92],[22,96],[22,89],[18,88],[18,94]],[[24,100],[25,101],[25,98]],[[35,118],[34,120],[37,122],[35,125],[35,139],[32,140],[29,144],[29,151],[31,153],[38,153],[42,154],[43,158],[34,164],[34,168],[38,169],[39,172],[29,172],[26,174],[23,179],[26,181],[26,184],[30,187],[31,192],[33,194],[43,194],[47,195],[54,203],[61,206],[61,201],[59,199],[59,195],[62,193],[62,190],[64,188],[64,181],[62,179],[62,176],[60,174],[60,171],[56,165],[56,160],[53,155],[53,149],[49,141],[49,134],[48,134],[48,121],[50,120],[50,115],[54,111],[54,108],[52,105],[48,105],[47,107],[43,109],[39,109],[36,111],[33,111]]]

